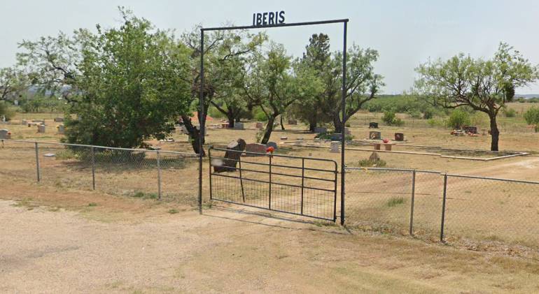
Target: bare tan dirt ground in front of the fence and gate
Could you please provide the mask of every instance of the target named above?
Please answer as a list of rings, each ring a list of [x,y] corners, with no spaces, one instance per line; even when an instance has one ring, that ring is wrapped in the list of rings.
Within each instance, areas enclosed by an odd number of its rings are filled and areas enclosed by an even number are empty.
[[[0,198],[2,293],[539,291],[539,260],[238,207],[25,182]]]

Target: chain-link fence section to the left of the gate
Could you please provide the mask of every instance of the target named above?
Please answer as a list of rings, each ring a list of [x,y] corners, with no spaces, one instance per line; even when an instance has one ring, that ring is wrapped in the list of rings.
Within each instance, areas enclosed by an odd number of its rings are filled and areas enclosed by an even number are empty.
[[[198,154],[2,140],[0,175],[57,188],[198,203]]]

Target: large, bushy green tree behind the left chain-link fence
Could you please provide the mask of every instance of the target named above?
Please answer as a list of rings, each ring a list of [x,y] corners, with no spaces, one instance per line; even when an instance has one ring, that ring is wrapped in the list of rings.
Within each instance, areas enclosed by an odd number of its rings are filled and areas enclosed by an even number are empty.
[[[67,142],[146,147],[145,140],[164,138],[188,112],[188,48],[148,20],[120,13],[119,28],[98,25],[97,34],[80,29],[73,37],[22,43],[20,63],[32,70],[34,83],[71,90]]]

